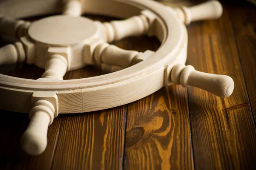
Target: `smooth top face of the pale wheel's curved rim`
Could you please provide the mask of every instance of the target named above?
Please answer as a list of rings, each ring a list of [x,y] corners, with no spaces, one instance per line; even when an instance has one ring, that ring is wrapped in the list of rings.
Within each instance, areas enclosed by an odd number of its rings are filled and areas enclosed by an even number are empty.
[[[160,22],[163,22],[165,26],[163,31],[165,31],[164,34],[166,35],[163,36],[164,39],[162,40],[162,45],[156,51],[156,53],[150,57],[150,59],[138,63],[137,65],[133,65],[130,68],[125,68],[123,70],[107,75],[55,82],[47,81],[47,85],[46,82],[10,77],[0,74],[0,85],[3,87],[26,89],[32,91],[64,91],[67,89],[73,90],[96,86],[99,87],[108,84],[116,84],[118,82],[132,79],[134,77],[138,78],[143,74],[151,72],[153,70],[152,68],[158,70],[159,68],[163,68],[165,65],[175,62],[176,56],[181,50],[179,47],[186,45],[186,42],[182,45],[182,40],[185,36],[184,32],[182,31],[186,30],[186,28],[177,20],[174,13],[164,8],[165,6],[162,4],[151,0],[121,0],[120,2],[130,4],[134,6],[134,8],[138,8],[138,6],[140,6],[141,9],[148,8],[159,16]],[[160,38],[160,36],[158,36],[158,38]],[[56,88],[57,85],[58,88]]]

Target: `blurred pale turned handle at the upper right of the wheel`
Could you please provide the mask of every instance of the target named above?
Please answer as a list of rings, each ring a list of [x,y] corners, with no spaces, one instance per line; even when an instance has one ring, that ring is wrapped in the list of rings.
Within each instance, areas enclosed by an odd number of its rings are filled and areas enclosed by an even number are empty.
[[[189,8],[183,6],[180,9],[176,9],[177,16],[186,25],[189,25],[192,21],[218,19],[223,11],[221,3],[217,0],[210,0]],[[181,14],[181,11],[183,14]]]

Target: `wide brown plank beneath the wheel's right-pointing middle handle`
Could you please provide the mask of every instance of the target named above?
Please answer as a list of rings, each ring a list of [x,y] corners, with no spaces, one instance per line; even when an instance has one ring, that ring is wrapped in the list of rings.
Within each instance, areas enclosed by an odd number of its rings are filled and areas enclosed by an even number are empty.
[[[188,34],[187,64],[235,82],[226,99],[189,88],[195,169],[248,169],[256,162],[256,130],[226,9],[219,20],[192,23]]]

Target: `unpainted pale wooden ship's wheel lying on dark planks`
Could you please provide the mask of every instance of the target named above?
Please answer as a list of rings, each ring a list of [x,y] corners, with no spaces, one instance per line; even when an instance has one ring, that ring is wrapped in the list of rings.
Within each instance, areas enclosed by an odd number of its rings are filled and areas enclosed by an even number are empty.
[[[84,13],[125,20],[101,23],[81,17]],[[40,14],[55,15],[34,22],[18,19]],[[218,1],[190,8],[170,8],[152,0],[0,2],[0,35],[17,39],[0,48],[0,64],[26,62],[45,69],[37,80],[0,74],[0,109],[29,113],[30,123],[21,144],[27,153],[38,155],[45,150],[48,126],[59,113],[125,105],[171,83],[228,97],[234,89],[232,78],[184,65],[188,42],[185,25],[217,19],[221,14]],[[157,37],[160,48],[138,52],[110,45],[142,34]],[[97,77],[63,80],[67,71],[102,63],[124,69]]]

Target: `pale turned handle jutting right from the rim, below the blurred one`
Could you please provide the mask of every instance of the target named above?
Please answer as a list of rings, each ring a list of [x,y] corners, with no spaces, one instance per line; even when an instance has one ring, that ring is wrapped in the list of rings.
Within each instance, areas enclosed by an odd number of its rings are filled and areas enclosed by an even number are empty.
[[[171,80],[183,87],[194,86],[220,97],[228,97],[234,90],[234,81],[231,77],[195,71],[191,65],[175,65],[172,68]]]

